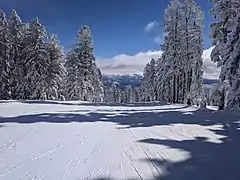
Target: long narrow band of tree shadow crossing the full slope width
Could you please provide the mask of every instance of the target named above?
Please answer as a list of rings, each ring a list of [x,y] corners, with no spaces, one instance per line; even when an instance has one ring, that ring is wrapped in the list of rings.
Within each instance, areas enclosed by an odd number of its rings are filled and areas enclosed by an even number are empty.
[[[172,111],[171,111],[172,110]],[[179,110],[179,111],[178,111]],[[171,124],[199,124],[202,126],[224,125],[231,121],[240,120],[240,114],[228,113],[224,111],[214,111],[209,109],[198,109],[196,111],[182,111],[183,108],[173,108],[165,112],[135,112],[132,111],[111,111],[88,112],[81,114],[81,110],[42,113],[33,115],[23,115],[18,117],[0,117],[0,123],[70,123],[70,122],[113,122],[118,125],[124,125],[123,128],[152,127]],[[105,110],[103,110],[105,111]],[[114,110],[115,111],[115,110]],[[86,112],[86,111],[84,111]]]

